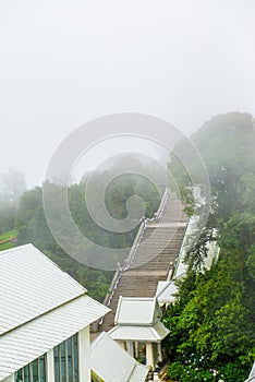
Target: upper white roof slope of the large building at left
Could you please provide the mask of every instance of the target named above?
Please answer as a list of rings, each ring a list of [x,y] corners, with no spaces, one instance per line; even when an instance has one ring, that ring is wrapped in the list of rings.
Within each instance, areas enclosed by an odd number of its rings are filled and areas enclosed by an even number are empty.
[[[0,335],[86,291],[33,244],[0,252]]]

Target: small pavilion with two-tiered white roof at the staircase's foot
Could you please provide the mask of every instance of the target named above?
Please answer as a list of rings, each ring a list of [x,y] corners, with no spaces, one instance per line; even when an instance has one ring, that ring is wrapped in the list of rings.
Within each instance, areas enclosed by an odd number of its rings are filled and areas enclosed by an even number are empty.
[[[160,322],[156,297],[120,297],[114,327],[108,332],[132,357],[155,369],[162,361],[161,342],[169,330]]]

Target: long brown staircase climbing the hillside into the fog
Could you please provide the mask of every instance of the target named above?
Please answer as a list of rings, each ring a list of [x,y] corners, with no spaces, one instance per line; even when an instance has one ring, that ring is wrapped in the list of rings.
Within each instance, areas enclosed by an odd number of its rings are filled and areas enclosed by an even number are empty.
[[[155,296],[158,282],[167,279],[171,264],[177,261],[186,225],[180,200],[167,190],[155,218],[142,223],[126,265],[120,266],[113,277],[111,293],[105,299],[111,312],[99,322],[99,332],[114,325],[120,296]]]

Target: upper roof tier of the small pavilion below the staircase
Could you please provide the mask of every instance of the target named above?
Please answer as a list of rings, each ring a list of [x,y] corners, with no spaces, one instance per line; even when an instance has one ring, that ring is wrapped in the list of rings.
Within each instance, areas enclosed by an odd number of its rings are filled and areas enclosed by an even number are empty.
[[[118,325],[151,325],[161,318],[156,297],[120,297],[114,322]]]

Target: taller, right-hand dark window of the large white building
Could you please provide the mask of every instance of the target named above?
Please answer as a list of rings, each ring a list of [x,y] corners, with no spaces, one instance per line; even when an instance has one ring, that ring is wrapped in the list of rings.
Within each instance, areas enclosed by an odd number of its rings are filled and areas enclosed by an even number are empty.
[[[54,382],[78,382],[77,334],[54,347]]]

